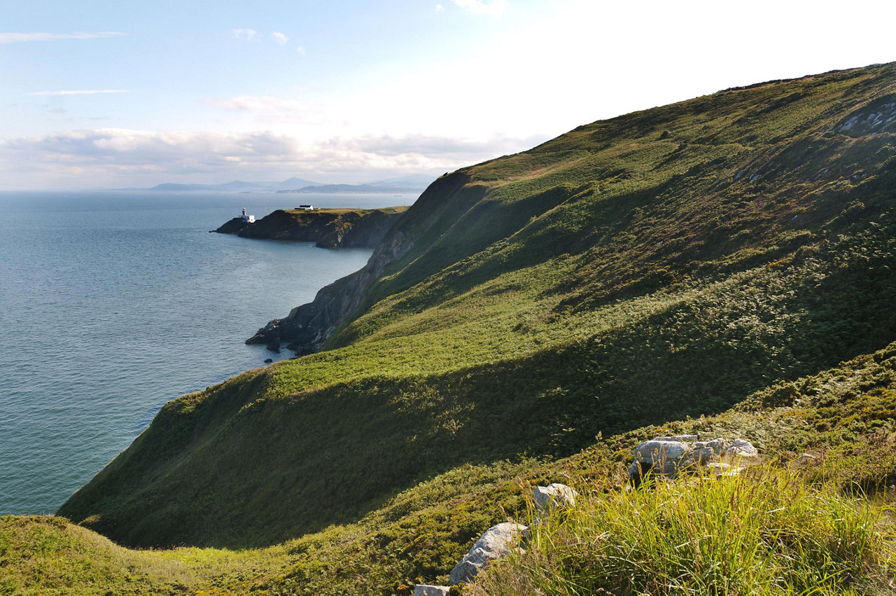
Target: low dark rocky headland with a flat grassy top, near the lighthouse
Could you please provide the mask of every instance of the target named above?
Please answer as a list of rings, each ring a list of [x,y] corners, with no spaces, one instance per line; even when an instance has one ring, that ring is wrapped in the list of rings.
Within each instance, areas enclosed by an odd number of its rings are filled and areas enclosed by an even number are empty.
[[[215,231],[241,238],[314,242],[321,248],[372,248],[407,209],[279,209],[254,223],[235,217]]]

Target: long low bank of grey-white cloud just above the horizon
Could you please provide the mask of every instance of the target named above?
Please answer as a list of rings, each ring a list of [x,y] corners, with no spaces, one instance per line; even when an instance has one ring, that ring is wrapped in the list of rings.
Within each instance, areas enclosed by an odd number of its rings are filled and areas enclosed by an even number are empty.
[[[520,151],[521,140],[488,142],[425,135],[333,137],[302,142],[268,132],[218,134],[123,128],[0,138],[6,186],[152,186],[180,180],[302,174],[361,182],[394,173],[446,171]]]

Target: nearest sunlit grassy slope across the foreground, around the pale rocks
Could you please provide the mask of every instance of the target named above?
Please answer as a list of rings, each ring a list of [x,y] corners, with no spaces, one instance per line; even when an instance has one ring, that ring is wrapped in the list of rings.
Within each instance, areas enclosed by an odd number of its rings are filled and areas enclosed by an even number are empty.
[[[679,433],[703,438],[744,436],[759,446],[766,464],[757,476],[709,491],[695,490],[703,485],[676,484],[668,487],[666,498],[657,499],[650,491],[622,490],[633,447],[651,436]],[[452,566],[487,527],[509,517],[528,519],[530,505],[525,495],[531,486],[562,481],[583,496],[573,517],[552,520],[530,548],[530,557],[496,566],[473,593],[535,593],[534,588],[576,593],[564,591],[570,580],[590,581],[591,589],[618,587],[613,583],[618,575],[595,581],[594,575],[602,568],[597,548],[570,550],[582,544],[570,540],[577,537],[574,531],[581,534],[595,527],[614,530],[612,540],[596,544],[625,549],[628,557],[616,557],[618,564],[638,563],[650,572],[638,575],[638,581],[651,593],[677,593],[674,582],[643,583],[670,571],[678,580],[690,577],[692,589],[700,587],[694,582],[701,578],[728,582],[732,590],[745,585],[755,588],[755,583],[745,582],[772,572],[773,581],[762,585],[767,593],[786,593],[788,582],[794,587],[804,580],[819,593],[888,593],[896,548],[892,511],[880,503],[892,502],[894,446],[896,342],[817,375],[771,385],[716,416],[602,436],[582,452],[556,461],[462,465],[401,492],[356,523],[332,526],[271,548],[130,550],[61,518],[3,517],[0,591],[409,594],[417,582],[446,582]],[[787,470],[788,462],[805,452],[817,460],[798,476],[775,471]],[[732,495],[741,492],[737,503],[743,506],[732,509]],[[860,495],[873,498],[869,501]],[[659,506],[668,503],[676,506]],[[763,515],[756,514],[757,506]],[[646,524],[649,531],[636,532],[644,515],[662,520],[662,528],[676,523],[675,537],[680,541],[671,544],[653,524]],[[602,516],[601,525],[596,526],[593,522],[598,516]],[[839,523],[845,519],[860,523]],[[701,537],[707,524],[713,523],[714,541],[704,542]],[[807,529],[814,532],[811,539]],[[762,540],[756,540],[757,533]],[[834,540],[826,540],[831,536]],[[657,540],[639,543],[638,538],[651,537]],[[766,540],[772,537],[782,540]],[[838,543],[838,537],[850,540]],[[744,538],[752,538],[756,548],[740,548],[738,540]],[[856,538],[861,543],[854,544],[851,539]],[[707,549],[673,548],[686,541]],[[786,550],[801,544],[802,550]],[[658,555],[657,548],[673,548],[676,556],[636,558],[644,553]],[[772,549],[770,565],[721,565],[768,552],[763,548]],[[816,554],[823,557],[813,559]],[[667,567],[651,567],[665,560]],[[788,564],[790,560],[794,564]],[[801,564],[806,561],[812,565]],[[822,573],[810,574],[813,570]],[[587,577],[583,571],[594,573]],[[754,592],[744,589],[741,593]]]

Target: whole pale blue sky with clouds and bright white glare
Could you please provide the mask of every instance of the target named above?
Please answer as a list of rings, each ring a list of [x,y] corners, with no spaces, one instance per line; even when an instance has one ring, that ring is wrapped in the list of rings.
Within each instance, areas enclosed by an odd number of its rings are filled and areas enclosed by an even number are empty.
[[[0,190],[435,177],[634,110],[896,60],[896,3],[866,0],[0,7]]]

